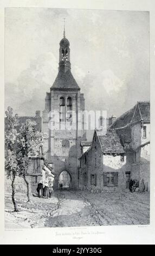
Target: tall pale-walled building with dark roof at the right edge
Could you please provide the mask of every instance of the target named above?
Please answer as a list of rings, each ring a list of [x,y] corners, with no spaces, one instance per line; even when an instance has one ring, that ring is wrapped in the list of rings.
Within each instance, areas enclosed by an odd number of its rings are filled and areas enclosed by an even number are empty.
[[[139,101],[132,109],[121,115],[111,128],[117,131],[121,143],[131,154],[128,174],[144,182],[144,190],[150,191],[150,101]]]

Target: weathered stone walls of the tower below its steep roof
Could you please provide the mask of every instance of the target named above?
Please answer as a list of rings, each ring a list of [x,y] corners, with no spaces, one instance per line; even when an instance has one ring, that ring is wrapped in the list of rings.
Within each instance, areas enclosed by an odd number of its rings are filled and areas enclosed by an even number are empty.
[[[72,127],[68,127],[70,122],[63,122],[63,130],[60,129],[49,129],[49,124],[46,112],[58,111],[60,97],[63,96],[72,97],[72,110],[76,113],[76,118],[73,117]],[[47,152],[46,159],[49,163],[53,164],[55,179],[54,189],[59,188],[59,175],[63,170],[67,170],[70,174],[72,182],[71,186],[74,189],[78,189],[78,157],[81,155],[81,139],[83,136],[82,119],[78,119],[78,111],[85,109],[85,99],[83,94],[77,91],[69,90],[51,90],[46,97],[46,109],[44,111],[43,118],[43,132],[47,134],[47,138],[44,139],[44,152]],[[62,125],[57,119],[57,127]],[[67,126],[66,126],[67,125]],[[62,147],[62,141],[67,139],[69,141],[69,148]]]

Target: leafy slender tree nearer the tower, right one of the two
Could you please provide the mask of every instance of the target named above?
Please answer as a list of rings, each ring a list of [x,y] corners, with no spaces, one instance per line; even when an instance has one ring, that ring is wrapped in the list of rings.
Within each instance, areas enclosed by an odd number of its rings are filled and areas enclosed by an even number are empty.
[[[20,132],[18,133],[17,143],[18,143],[18,169],[19,175],[25,181],[27,185],[27,197],[28,202],[30,202],[30,191],[29,191],[29,180],[28,169],[31,162],[31,156],[40,154],[40,146],[42,145],[42,133],[35,131],[34,126],[35,121],[27,119],[20,127]]]

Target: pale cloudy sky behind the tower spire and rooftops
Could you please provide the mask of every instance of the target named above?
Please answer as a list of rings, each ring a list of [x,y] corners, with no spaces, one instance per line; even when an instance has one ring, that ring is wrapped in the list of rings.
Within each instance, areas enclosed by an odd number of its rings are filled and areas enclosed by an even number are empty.
[[[119,117],[150,100],[148,11],[6,8],[5,109],[43,111],[58,72],[63,17],[72,74],[88,111]]]

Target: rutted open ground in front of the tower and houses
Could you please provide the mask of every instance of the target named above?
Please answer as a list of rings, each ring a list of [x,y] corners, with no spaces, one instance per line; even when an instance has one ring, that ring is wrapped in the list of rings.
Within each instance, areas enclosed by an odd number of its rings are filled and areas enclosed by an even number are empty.
[[[92,225],[149,224],[150,193],[55,191],[51,198],[16,194],[19,212],[13,211],[11,194],[5,193],[5,228],[78,227]]]

